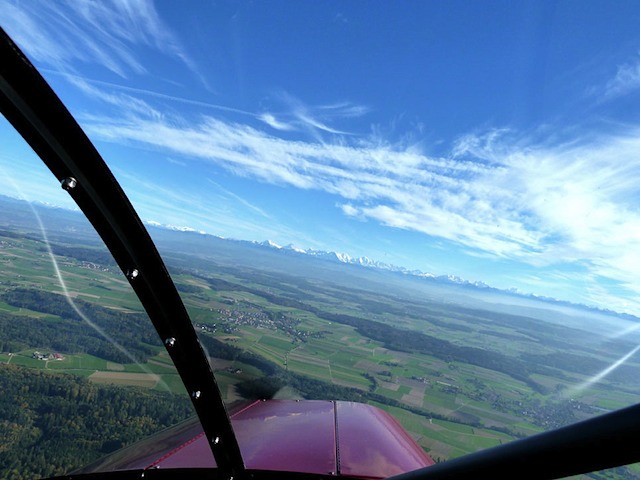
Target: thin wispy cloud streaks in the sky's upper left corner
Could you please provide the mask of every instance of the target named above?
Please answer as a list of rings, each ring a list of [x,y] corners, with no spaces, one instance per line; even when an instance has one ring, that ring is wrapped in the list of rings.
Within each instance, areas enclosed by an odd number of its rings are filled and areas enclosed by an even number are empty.
[[[33,59],[61,71],[80,62],[123,78],[143,74],[149,66],[135,47],[147,47],[198,72],[149,0],[4,1],[0,21]]]

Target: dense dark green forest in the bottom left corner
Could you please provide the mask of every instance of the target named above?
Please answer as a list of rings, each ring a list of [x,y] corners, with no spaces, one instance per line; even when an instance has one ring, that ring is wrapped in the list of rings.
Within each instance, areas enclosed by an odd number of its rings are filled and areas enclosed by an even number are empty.
[[[0,365],[0,472],[62,475],[192,414],[183,395]]]

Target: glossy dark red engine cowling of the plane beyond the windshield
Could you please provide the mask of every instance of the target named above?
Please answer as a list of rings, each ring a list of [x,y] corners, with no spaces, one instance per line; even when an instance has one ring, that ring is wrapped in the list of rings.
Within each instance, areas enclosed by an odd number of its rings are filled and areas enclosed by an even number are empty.
[[[393,417],[370,405],[258,401],[231,422],[248,469],[384,478],[434,463]],[[197,423],[168,432],[155,454],[134,449],[109,468],[215,467],[201,432]]]

